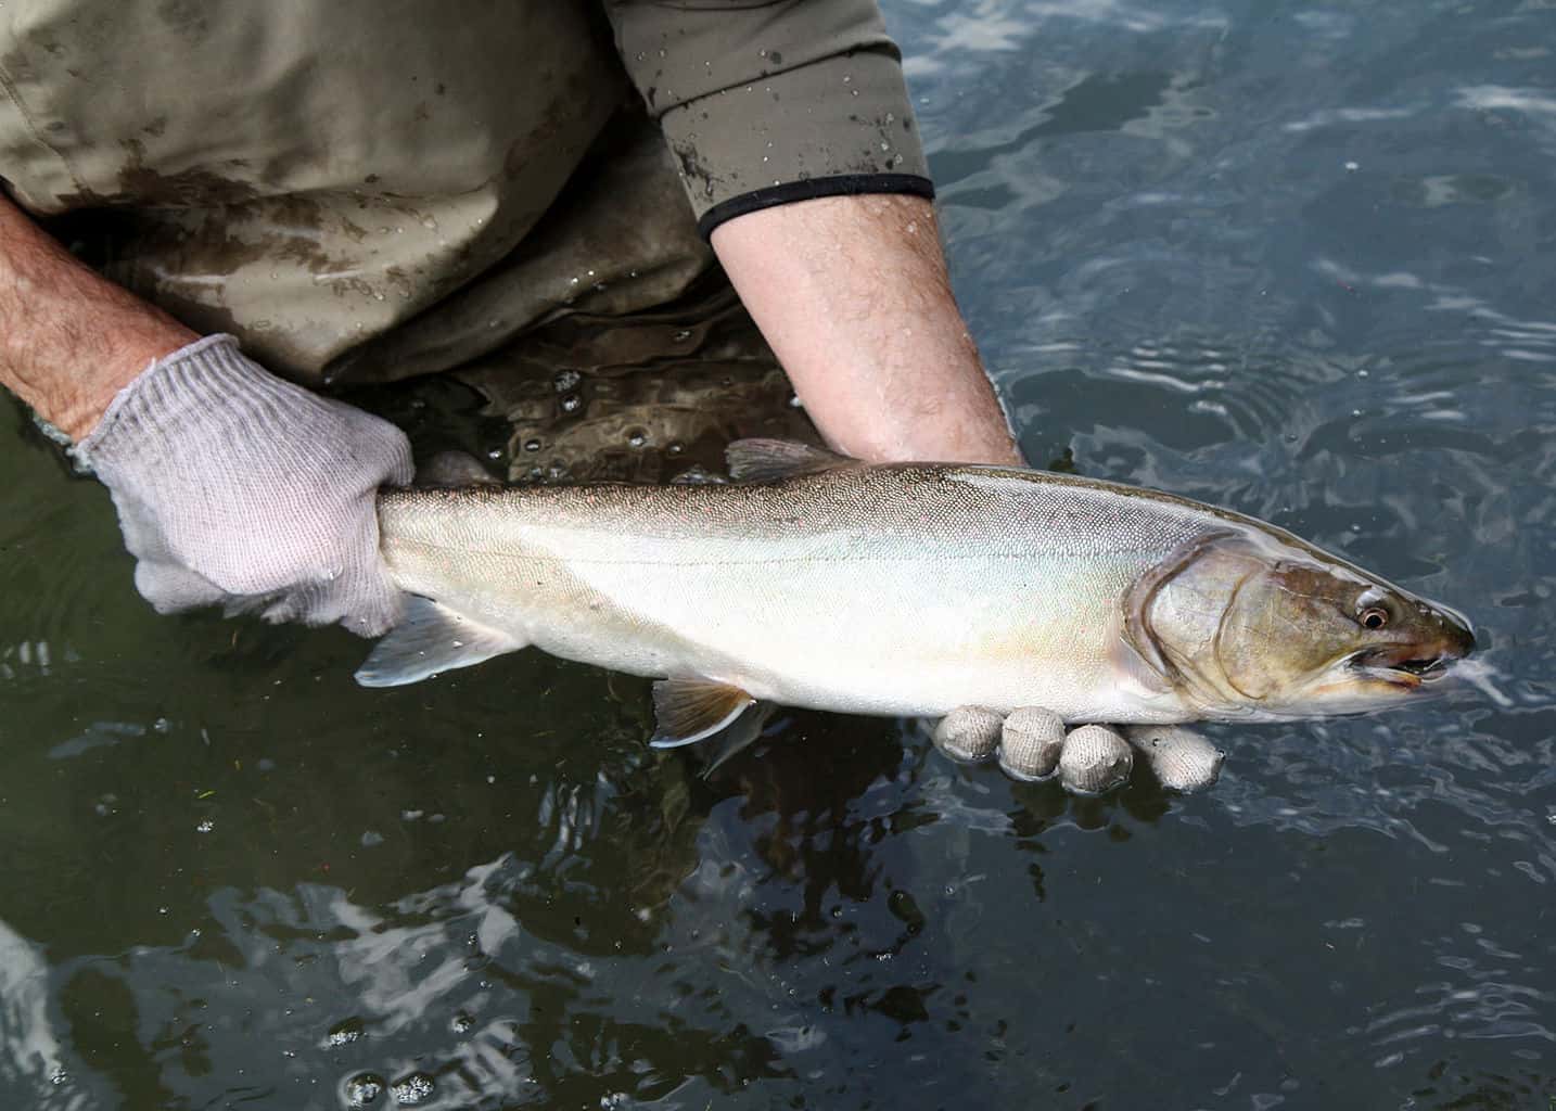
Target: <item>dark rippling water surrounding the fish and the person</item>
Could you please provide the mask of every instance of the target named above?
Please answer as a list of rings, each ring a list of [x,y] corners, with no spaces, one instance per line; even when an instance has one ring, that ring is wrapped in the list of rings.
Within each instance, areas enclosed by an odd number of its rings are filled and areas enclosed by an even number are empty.
[[[1475,618],[1478,685],[1075,801],[646,685],[157,618],[0,433],[0,1103],[1547,1108],[1556,6],[888,6],[1036,462]],[[53,1081],[51,1081],[53,1078]]]

